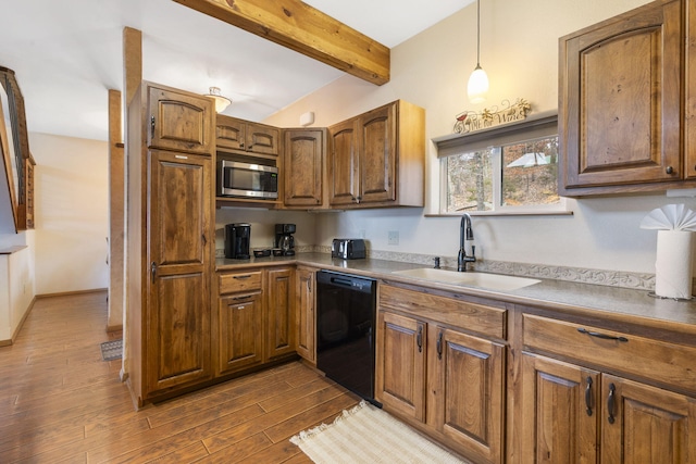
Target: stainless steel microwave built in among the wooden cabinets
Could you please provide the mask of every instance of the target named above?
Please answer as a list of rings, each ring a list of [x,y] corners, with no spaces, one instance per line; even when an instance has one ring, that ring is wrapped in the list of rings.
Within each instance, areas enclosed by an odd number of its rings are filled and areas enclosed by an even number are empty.
[[[278,168],[238,161],[217,161],[217,196],[278,198]]]

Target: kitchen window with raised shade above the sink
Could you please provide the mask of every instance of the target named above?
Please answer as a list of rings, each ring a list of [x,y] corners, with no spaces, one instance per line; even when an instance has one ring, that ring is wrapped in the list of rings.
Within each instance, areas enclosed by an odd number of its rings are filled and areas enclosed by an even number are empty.
[[[557,116],[435,140],[440,214],[567,214]]]

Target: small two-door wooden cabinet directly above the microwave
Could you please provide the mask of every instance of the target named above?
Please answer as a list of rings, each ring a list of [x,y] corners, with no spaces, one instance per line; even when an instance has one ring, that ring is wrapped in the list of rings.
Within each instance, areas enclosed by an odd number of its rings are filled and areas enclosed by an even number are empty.
[[[222,151],[277,156],[279,133],[276,127],[219,114],[215,126],[216,148]]]

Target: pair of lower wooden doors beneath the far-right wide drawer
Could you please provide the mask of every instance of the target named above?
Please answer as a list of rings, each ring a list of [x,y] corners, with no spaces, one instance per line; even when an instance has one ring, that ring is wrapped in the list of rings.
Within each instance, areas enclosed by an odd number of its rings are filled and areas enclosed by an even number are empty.
[[[696,460],[694,398],[529,353],[522,375],[523,462]]]

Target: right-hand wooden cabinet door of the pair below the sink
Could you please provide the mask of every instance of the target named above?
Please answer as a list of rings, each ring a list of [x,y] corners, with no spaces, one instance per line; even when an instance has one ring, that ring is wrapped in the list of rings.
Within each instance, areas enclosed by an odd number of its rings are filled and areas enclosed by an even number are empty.
[[[468,455],[502,462],[504,347],[451,329],[432,328],[427,377],[436,392],[433,425]]]

